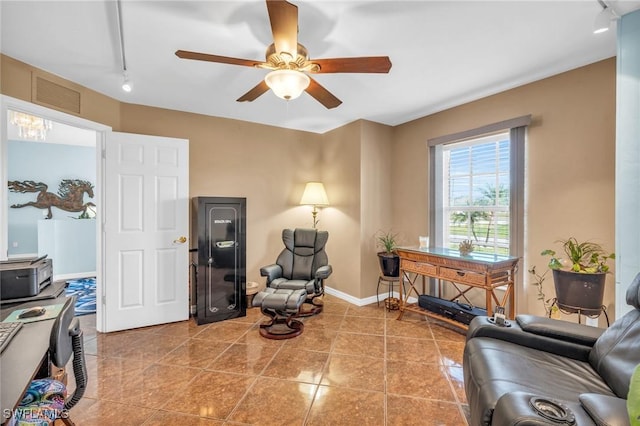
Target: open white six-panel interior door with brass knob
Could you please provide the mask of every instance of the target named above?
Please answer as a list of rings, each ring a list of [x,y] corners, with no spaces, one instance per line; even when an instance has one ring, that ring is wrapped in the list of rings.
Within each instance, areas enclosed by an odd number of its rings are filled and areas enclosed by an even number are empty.
[[[188,144],[107,134],[101,331],[189,317]]]

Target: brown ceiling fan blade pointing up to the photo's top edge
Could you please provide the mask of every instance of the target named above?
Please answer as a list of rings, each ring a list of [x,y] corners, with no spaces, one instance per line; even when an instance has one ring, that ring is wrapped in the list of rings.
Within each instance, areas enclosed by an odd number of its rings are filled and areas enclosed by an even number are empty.
[[[267,0],[267,11],[276,53],[287,52],[295,60],[298,55],[298,6],[285,0]]]

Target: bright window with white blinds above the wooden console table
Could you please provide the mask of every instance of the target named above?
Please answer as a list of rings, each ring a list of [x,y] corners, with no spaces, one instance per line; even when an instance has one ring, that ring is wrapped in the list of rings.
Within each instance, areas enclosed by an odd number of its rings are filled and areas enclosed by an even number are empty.
[[[509,133],[446,145],[442,156],[443,246],[471,240],[477,252],[508,255]]]

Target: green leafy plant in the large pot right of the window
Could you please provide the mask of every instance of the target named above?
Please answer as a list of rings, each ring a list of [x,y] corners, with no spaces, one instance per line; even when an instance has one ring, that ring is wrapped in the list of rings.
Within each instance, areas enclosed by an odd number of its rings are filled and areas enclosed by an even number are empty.
[[[555,250],[543,250],[543,256],[551,256],[549,260],[550,269],[568,269],[571,272],[585,274],[597,274],[609,272],[609,259],[615,259],[615,253],[604,251],[602,246],[590,241],[579,242],[574,237],[558,241],[562,244],[562,249],[568,258],[568,263],[563,258],[556,255]]]

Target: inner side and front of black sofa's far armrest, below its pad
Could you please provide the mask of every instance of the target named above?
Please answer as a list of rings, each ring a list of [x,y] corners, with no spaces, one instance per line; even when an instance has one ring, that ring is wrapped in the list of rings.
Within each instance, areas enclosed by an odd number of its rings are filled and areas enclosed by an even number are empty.
[[[489,337],[581,361],[589,359],[591,345],[527,332],[518,321],[510,320],[509,324],[509,327],[497,326],[489,322],[486,316],[475,317],[469,324],[467,341],[474,337]]]

